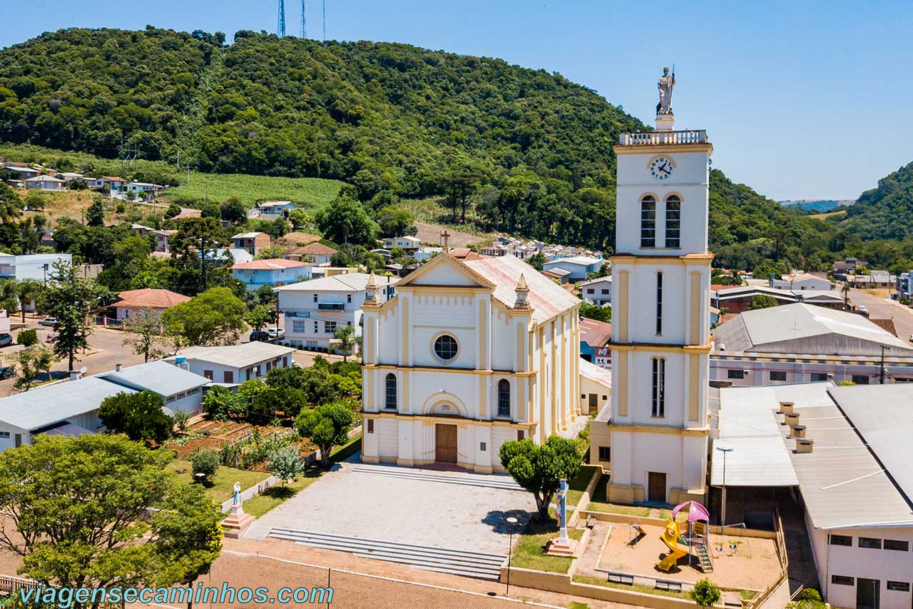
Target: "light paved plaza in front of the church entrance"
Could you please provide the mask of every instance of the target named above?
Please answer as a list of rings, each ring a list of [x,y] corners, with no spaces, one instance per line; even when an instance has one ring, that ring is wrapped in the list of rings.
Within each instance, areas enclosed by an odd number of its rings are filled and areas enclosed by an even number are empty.
[[[357,458],[259,518],[245,537],[291,529],[506,555],[505,518],[526,521],[535,510],[530,493],[508,475],[365,465]]]

